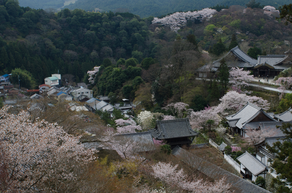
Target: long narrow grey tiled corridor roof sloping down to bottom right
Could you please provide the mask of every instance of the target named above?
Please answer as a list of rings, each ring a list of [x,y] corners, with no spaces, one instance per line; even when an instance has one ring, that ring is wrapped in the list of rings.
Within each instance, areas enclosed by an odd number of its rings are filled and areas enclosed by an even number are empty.
[[[172,150],[172,154],[175,157],[179,157],[183,162],[194,167],[209,178],[214,180],[226,178],[225,183],[229,183],[232,186],[231,189],[233,189],[235,193],[270,193],[269,191],[215,166],[214,164],[211,164],[178,146]]]

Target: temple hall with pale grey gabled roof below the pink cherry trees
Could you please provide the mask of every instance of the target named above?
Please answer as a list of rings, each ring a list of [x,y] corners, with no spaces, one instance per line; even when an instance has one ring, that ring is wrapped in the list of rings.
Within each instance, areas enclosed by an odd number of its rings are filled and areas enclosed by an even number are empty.
[[[246,135],[246,129],[258,129],[261,122],[277,122],[263,108],[250,102],[237,113],[226,116],[226,119],[230,129],[233,130],[233,134],[238,133],[243,137],[248,137]]]

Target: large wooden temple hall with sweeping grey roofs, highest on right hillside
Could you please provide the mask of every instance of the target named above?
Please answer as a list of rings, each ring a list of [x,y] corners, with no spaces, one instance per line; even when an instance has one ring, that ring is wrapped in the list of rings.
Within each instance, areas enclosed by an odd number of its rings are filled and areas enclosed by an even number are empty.
[[[256,60],[236,46],[220,59],[213,61],[211,65],[205,64],[197,69],[199,77],[207,78],[208,73],[218,71],[222,59],[225,59],[229,68],[239,67],[252,70],[254,77],[273,78],[281,71],[292,67],[292,51],[290,50],[284,52],[283,55],[258,56]]]

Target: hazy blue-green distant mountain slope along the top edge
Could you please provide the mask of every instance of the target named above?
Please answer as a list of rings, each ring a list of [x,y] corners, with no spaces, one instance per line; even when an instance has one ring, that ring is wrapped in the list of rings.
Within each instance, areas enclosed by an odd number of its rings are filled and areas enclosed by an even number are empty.
[[[86,11],[130,12],[140,17],[157,17],[177,11],[200,10],[219,5],[245,6],[249,0],[19,0],[20,6],[31,8],[68,8]],[[75,3],[74,3],[75,2]],[[291,0],[260,0],[263,5],[278,8],[291,3]],[[69,4],[71,3],[71,4]],[[65,6],[64,6],[65,5]]]

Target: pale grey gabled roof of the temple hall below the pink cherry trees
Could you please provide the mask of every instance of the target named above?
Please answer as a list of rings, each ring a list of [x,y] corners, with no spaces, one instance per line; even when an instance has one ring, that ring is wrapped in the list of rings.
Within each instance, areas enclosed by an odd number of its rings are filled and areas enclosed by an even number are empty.
[[[254,118],[260,115],[260,113],[263,113],[267,117],[267,120],[276,121],[270,115],[265,113],[262,108],[250,102],[247,102],[246,106],[244,106],[237,113],[226,116],[226,119],[228,120],[227,123],[230,124],[229,125],[230,127],[234,126],[233,124],[235,120],[238,119],[238,121],[235,123],[235,126],[241,129],[246,123],[251,122]],[[234,121],[234,122],[231,122],[231,121]],[[263,121],[266,121],[266,120],[263,120]]]

